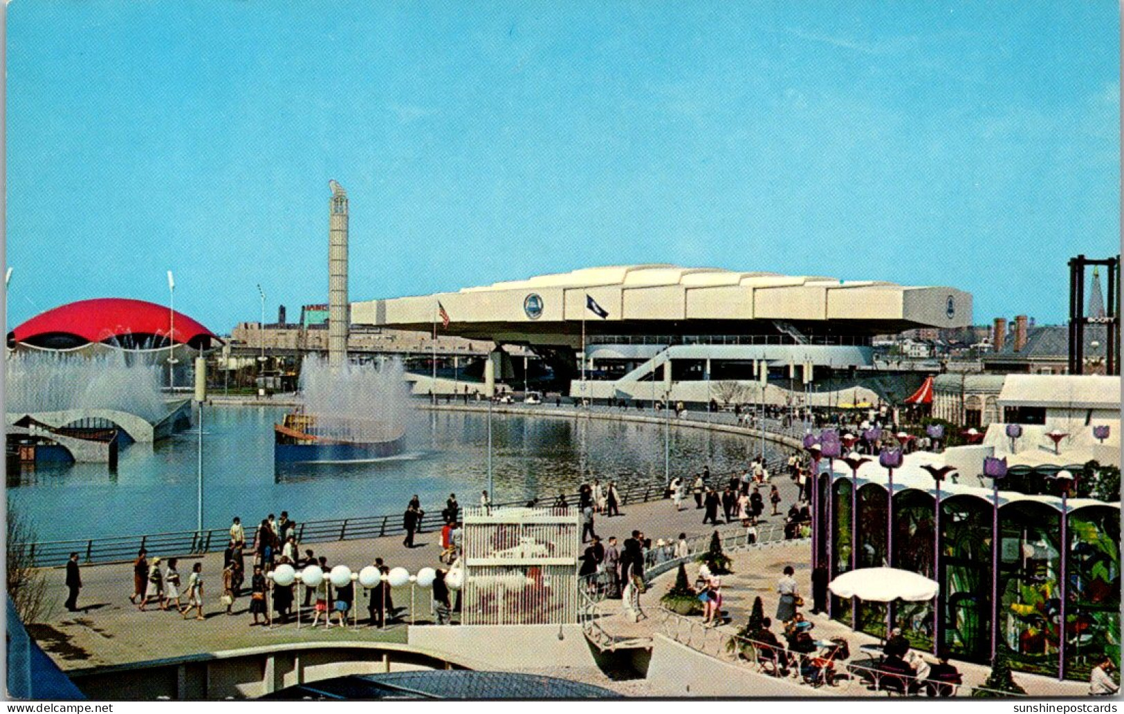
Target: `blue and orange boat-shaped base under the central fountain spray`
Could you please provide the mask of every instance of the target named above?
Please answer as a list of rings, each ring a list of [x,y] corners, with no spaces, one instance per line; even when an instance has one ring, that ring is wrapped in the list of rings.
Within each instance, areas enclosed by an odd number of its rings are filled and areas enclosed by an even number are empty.
[[[406,429],[377,419],[306,414],[297,410],[273,424],[273,463],[366,461],[398,456]]]

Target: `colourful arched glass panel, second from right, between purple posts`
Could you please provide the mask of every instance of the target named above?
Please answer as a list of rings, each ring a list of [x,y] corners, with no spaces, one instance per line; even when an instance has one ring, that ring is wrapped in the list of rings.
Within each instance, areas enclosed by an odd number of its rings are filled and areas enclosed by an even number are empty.
[[[1061,514],[1019,501],[999,509],[999,643],[1012,668],[1058,676]]]

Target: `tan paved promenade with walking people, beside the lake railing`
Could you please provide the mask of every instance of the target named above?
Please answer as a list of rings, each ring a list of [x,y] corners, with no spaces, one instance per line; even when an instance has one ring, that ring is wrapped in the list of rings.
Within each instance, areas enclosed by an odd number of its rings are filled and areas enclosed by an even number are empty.
[[[774,476],[783,498],[781,513],[796,497],[796,485],[783,474]],[[696,510],[694,501],[685,503],[683,511],[676,512],[671,501],[655,501],[628,505],[622,509],[619,516],[595,520],[595,530],[602,538],[616,536],[622,541],[633,530],[642,530],[653,539],[670,539],[680,532],[688,536],[701,536],[714,530],[711,525],[703,524],[703,511]],[[783,515],[768,516],[768,503],[763,523],[781,523]],[[736,522],[720,527],[723,531],[741,532]],[[359,570],[370,565],[375,557],[383,558],[390,567],[402,566],[416,573],[419,568],[437,567],[441,552],[437,532],[424,532],[415,538],[416,547],[402,546],[401,537],[386,537],[370,540],[350,540],[333,543],[309,546],[317,556],[326,556],[328,566],[346,565],[352,570]],[[805,555],[804,558],[807,556]],[[272,630],[263,626],[251,626],[252,616],[247,612],[248,596],[239,597],[235,603],[234,616],[225,614],[219,604],[221,594],[223,555],[208,553],[201,557],[181,558],[179,571],[187,583],[188,574],[194,562],[203,564],[205,593],[207,605],[203,608],[206,620],[183,620],[173,612],[162,612],[155,606],[148,606],[146,612],[129,603],[128,596],[133,589],[133,568],[130,564],[110,564],[82,567],[83,587],[79,596],[79,607],[82,612],[70,613],[62,607],[66,598],[63,584],[63,568],[45,569],[49,588],[48,597],[54,599],[55,607],[45,622],[29,628],[33,637],[55,659],[63,669],[85,668],[100,665],[117,665],[133,661],[145,661],[160,658],[176,657],[197,652],[238,649],[263,643],[309,640],[354,640],[386,639],[404,642],[406,639],[402,624],[393,624],[386,630],[365,626],[366,597],[360,593],[359,631],[343,631],[339,628],[325,630],[323,626],[311,630],[308,626],[298,630],[296,625],[275,626]],[[247,562],[250,557],[247,556]],[[166,559],[165,559],[166,562]],[[248,587],[248,578],[244,588]],[[185,598],[183,598],[185,602]],[[399,612],[400,621],[408,623],[410,613],[409,587],[397,588],[393,593],[396,607],[406,606]],[[419,622],[429,620],[428,591],[417,588],[414,612]],[[302,620],[310,613],[302,611]],[[306,620],[307,622],[307,620]]]

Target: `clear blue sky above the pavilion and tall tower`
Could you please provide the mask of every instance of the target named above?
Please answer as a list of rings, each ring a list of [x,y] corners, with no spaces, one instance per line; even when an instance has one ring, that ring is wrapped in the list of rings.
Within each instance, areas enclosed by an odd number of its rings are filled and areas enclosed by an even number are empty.
[[[1067,311],[1120,249],[1111,1],[8,7],[9,326],[165,302],[225,332],[353,300],[667,262]]]

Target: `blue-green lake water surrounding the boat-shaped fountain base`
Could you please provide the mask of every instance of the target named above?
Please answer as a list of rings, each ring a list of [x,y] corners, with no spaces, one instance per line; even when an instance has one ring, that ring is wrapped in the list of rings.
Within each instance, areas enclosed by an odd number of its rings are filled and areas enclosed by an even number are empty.
[[[410,413],[407,452],[359,465],[273,469],[273,423],[282,408],[211,406],[203,425],[203,525],[239,515],[247,529],[268,513],[300,521],[398,514],[418,494],[441,511],[450,492],[462,505],[487,488],[488,417]],[[181,432],[121,452],[116,474],[103,464],[9,474],[8,498],[30,518],[37,540],[69,540],[192,530],[196,527],[197,433]],[[756,440],[701,429],[671,429],[672,474],[705,464],[724,474],[744,466]],[[573,492],[581,474],[602,482],[664,483],[663,427],[597,419],[493,414],[493,501]]]

